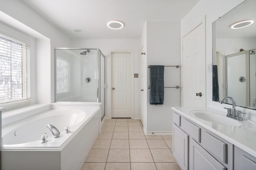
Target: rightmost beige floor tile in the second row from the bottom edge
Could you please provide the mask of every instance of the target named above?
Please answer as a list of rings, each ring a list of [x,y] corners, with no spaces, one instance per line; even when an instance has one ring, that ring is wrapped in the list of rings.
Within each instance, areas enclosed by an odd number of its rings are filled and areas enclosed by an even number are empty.
[[[150,149],[154,162],[176,162],[170,149]]]

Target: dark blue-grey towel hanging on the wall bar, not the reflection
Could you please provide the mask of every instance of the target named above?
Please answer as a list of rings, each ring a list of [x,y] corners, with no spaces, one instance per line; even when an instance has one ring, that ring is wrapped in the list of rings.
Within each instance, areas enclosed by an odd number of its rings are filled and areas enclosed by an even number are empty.
[[[152,66],[149,69],[150,104],[164,104],[164,66]]]

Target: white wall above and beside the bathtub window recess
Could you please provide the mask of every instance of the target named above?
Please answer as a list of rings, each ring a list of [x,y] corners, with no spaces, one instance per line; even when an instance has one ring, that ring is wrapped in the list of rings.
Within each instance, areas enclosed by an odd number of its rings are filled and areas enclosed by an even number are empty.
[[[37,102],[54,102],[54,48],[70,46],[70,38],[21,0],[1,0],[0,21],[36,38]]]

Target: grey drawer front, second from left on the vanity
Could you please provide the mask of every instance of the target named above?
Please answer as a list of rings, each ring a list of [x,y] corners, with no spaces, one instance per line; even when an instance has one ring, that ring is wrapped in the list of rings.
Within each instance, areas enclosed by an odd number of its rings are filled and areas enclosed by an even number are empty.
[[[181,118],[181,128],[188,133],[189,136],[194,138],[197,142],[201,142],[201,128],[197,127],[190,121]]]

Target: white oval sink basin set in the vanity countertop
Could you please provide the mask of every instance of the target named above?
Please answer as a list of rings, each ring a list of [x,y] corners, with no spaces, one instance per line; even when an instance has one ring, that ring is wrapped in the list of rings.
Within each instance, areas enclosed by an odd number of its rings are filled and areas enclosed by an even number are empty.
[[[236,126],[236,127],[239,127],[242,125],[242,123],[240,123],[239,121],[226,117],[226,115],[222,113],[215,113],[215,112],[201,111],[201,110],[191,111],[191,113],[196,117],[198,117],[199,119],[203,119],[211,123],[216,123],[216,124],[226,125],[226,126]]]

